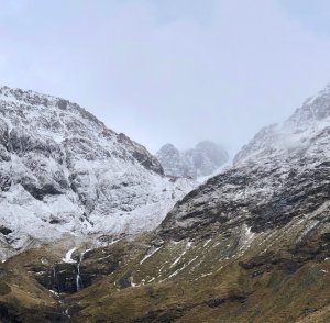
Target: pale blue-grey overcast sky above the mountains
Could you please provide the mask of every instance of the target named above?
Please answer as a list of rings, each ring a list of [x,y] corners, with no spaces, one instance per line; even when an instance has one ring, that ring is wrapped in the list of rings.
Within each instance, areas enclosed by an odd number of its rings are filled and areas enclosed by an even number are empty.
[[[78,102],[155,153],[231,154],[330,82],[328,0],[0,0],[0,83]]]

